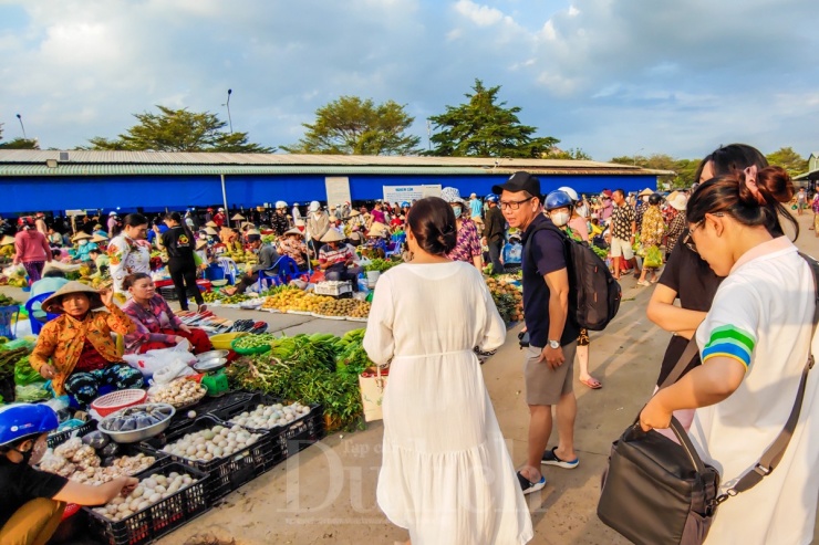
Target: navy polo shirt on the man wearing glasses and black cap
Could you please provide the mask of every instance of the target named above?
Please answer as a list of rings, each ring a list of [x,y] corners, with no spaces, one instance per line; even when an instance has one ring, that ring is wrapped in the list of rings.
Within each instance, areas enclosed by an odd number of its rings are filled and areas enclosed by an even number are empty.
[[[546,276],[566,269],[566,245],[562,237],[551,229],[541,229],[532,234],[541,223],[551,223],[542,213],[536,216],[523,231],[523,319],[529,332],[530,344],[542,348],[549,340],[549,286]],[[531,238],[531,241],[529,239]],[[561,346],[578,339],[580,328],[571,316],[567,316]]]

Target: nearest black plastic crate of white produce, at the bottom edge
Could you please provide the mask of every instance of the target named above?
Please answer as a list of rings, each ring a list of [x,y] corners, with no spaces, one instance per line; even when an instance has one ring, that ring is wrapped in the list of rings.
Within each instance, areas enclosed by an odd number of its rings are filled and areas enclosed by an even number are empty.
[[[89,515],[91,534],[108,545],[139,545],[153,542],[208,511],[210,509],[207,494],[209,479],[201,471],[182,463],[166,461],[157,462],[136,476],[143,480],[157,473],[168,474],[172,471],[188,474],[198,481],[118,522],[94,513],[91,507],[83,507]]]

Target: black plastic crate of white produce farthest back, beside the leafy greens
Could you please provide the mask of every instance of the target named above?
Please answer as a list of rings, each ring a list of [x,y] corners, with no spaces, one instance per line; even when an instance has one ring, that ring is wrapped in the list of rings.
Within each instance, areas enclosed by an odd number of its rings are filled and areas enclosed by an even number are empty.
[[[229,407],[219,411],[215,411],[214,416],[220,420],[228,422],[234,417],[241,415],[247,411],[250,412],[256,408],[257,405],[274,405],[281,403],[282,400],[273,396],[267,396],[263,394],[257,394],[252,399],[248,401]],[[311,405],[310,412],[301,418],[293,420],[286,426],[277,426],[276,428],[248,428],[251,431],[259,433],[269,433],[273,446],[278,446],[282,449],[284,458],[307,449],[311,444],[324,438],[324,417],[320,405]],[[272,465],[276,465],[281,460],[271,460]],[[272,468],[270,465],[268,469]]]

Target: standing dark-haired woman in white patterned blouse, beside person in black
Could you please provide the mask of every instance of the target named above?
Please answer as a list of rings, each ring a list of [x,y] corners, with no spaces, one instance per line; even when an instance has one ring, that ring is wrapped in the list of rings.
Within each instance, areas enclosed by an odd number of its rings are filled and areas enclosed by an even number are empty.
[[[111,279],[114,281],[114,292],[125,295],[123,287],[125,276],[134,273],[151,273],[151,244],[145,240],[148,235],[148,219],[141,213],[129,213],[125,217],[123,231],[108,243],[108,259],[111,261]]]

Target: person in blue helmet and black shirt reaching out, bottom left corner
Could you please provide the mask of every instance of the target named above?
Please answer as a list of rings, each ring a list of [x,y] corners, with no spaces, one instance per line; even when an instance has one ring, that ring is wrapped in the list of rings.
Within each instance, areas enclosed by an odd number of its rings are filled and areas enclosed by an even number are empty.
[[[42,545],[56,532],[69,503],[103,505],[128,495],[139,482],[118,476],[82,484],[33,468],[58,427],[46,405],[13,403],[0,408],[0,543]]]

